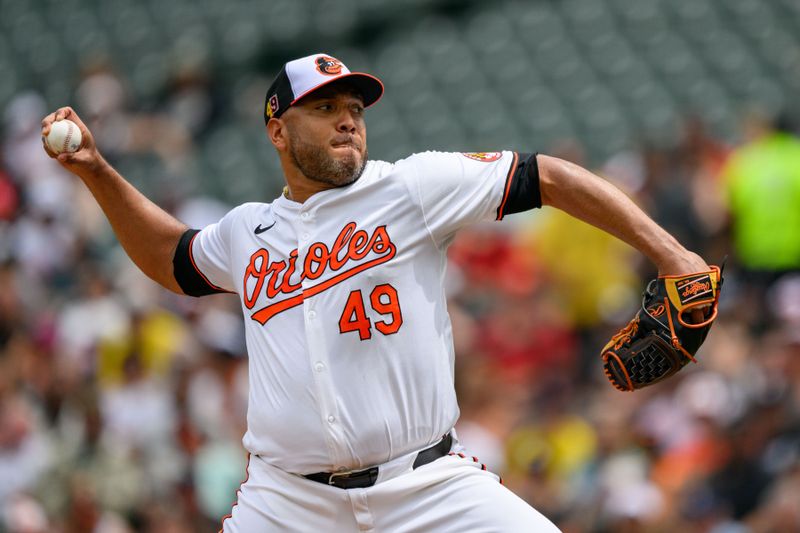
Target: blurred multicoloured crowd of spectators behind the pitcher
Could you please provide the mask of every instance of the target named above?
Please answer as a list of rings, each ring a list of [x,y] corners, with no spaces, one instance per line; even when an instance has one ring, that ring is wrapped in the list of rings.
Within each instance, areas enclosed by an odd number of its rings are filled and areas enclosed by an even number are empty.
[[[215,116],[202,76],[145,113],[101,69],[75,101],[112,163],[155,161],[148,193],[182,221],[232,207],[191,182]],[[216,531],[245,474],[239,303],[136,270],[42,150],[50,111],[36,93],[3,111],[0,531]],[[565,532],[800,531],[800,140],[782,118],[742,124],[723,141],[687,119],[675,146],[607,161],[532,147],[611,180],[709,263],[727,256],[699,364],[657,386],[621,393],[600,369],[656,274],[635,250],[547,208],[451,248],[459,437]]]

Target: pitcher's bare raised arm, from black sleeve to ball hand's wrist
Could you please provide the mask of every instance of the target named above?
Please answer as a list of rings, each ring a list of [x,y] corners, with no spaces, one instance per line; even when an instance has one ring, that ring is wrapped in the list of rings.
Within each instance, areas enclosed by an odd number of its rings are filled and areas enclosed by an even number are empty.
[[[167,289],[183,293],[172,272],[172,257],[186,225],[136,190],[102,157],[77,174],[136,266]]]

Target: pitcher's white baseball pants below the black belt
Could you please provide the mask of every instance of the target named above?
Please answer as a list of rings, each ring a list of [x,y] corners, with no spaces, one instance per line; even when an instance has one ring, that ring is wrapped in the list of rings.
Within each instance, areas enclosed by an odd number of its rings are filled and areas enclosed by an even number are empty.
[[[416,454],[381,466],[372,487],[341,489],[251,456],[224,533],[558,533],[547,518],[471,457],[444,456],[416,470]]]

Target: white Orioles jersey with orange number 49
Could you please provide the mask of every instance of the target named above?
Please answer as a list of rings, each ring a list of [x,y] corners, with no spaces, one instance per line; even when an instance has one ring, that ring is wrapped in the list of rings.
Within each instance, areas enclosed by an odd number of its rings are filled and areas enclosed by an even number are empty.
[[[530,190],[513,183],[529,160],[370,161],[351,185],[247,203],[194,235],[194,269],[244,311],[247,450],[292,473],[357,470],[454,426],[446,250],[459,228],[519,203],[510,191]],[[538,181],[535,192],[525,208],[540,203]]]

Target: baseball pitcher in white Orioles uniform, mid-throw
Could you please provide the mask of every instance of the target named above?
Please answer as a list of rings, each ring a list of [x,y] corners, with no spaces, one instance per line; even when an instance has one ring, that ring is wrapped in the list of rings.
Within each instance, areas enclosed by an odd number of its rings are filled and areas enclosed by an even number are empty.
[[[203,229],[126,182],[72,109],[47,116],[42,134],[62,119],[79,125],[77,152],[45,150],[84,181],[145,274],[180,294],[241,301],[250,455],[223,531],[558,531],[453,431],[448,246],[473,222],[553,206],[636,247],[665,279],[700,273],[711,289],[680,309],[699,313],[698,323],[715,312],[718,271],[618,189],[563,160],[512,151],[369,160],[364,110],[382,94],[377,78],[327,54],[286,63],[264,109],[284,193]],[[639,364],[631,342],[645,342],[632,328],[604,355],[624,389],[641,386],[626,372]],[[686,357],[670,342],[658,348]]]

